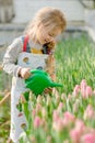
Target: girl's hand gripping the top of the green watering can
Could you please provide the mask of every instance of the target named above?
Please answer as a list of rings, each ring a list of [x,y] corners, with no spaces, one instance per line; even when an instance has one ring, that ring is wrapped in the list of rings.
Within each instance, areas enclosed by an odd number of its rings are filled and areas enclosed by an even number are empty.
[[[19,72],[19,76],[23,79],[27,79],[32,75],[29,70],[29,68],[21,68]]]

